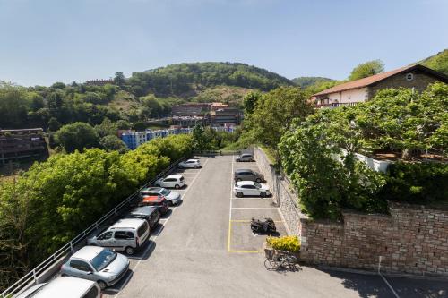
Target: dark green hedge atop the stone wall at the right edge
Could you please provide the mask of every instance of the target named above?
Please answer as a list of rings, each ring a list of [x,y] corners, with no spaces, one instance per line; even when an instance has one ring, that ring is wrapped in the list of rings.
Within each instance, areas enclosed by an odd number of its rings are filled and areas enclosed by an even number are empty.
[[[414,204],[448,201],[448,164],[397,162],[387,172],[378,194],[381,199]]]

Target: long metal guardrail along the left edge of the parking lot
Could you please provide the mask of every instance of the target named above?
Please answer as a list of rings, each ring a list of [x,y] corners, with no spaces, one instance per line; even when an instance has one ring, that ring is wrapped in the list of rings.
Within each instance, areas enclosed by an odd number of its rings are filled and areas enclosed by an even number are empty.
[[[39,276],[43,275],[49,268],[55,266],[55,264],[62,258],[66,257],[66,255],[70,252],[73,252],[73,248],[81,243],[90,233],[93,231],[98,230],[98,228],[107,222],[112,217],[115,217],[116,215],[119,215],[120,211],[125,207],[128,206],[133,200],[138,198],[139,192],[145,188],[150,186],[152,183],[154,183],[156,180],[158,180],[161,176],[167,175],[169,172],[171,172],[177,164],[184,160],[187,157],[177,159],[174,163],[172,163],[170,166],[168,166],[166,169],[164,169],[162,172],[159,173],[155,178],[151,179],[149,182],[144,183],[142,187],[138,189],[138,191],[131,194],[129,197],[127,197],[125,200],[123,200],[121,203],[116,205],[114,209],[111,209],[108,213],[106,213],[103,217],[99,218],[98,221],[90,225],[87,229],[82,231],[81,234],[78,234],[76,237],[72,239],[69,243],[66,243],[63,247],[61,247],[58,251],[53,253],[51,256],[47,258],[47,260],[44,260],[41,262],[38,266],[33,268],[30,272],[28,272],[24,277],[16,281],[13,285],[9,286],[2,294],[0,294],[0,298],[10,298],[13,297],[14,294],[19,294],[26,288],[28,288],[31,285],[37,285]]]

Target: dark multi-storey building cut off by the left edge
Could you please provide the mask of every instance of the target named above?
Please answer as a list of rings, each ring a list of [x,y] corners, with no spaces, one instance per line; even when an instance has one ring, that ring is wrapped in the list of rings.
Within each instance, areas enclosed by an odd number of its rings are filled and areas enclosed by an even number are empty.
[[[0,130],[0,164],[47,156],[47,142],[41,128]]]

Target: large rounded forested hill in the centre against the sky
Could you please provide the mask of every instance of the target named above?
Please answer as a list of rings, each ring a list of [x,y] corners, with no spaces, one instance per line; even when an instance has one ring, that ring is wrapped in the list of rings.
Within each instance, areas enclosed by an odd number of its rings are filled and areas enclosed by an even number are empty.
[[[133,72],[126,83],[135,96],[154,93],[180,97],[198,89],[221,85],[269,91],[293,84],[289,79],[263,68],[221,62],[172,64],[145,72]]]

